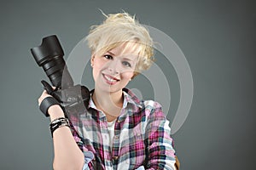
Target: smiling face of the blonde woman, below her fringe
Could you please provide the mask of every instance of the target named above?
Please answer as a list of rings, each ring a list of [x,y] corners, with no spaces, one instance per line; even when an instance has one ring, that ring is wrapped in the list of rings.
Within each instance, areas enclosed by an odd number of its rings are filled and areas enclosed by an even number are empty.
[[[131,48],[119,46],[91,57],[95,88],[109,93],[120,92],[131,81],[137,63],[137,54]]]

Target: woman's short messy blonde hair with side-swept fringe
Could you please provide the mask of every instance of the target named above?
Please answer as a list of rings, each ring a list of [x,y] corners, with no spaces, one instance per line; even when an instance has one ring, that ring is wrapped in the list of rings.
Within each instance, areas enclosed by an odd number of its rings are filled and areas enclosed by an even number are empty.
[[[125,44],[125,48],[129,46],[138,54],[135,76],[147,70],[154,60],[153,40],[148,30],[125,12],[104,15],[107,19],[99,26],[91,26],[86,37],[91,54],[102,55]]]

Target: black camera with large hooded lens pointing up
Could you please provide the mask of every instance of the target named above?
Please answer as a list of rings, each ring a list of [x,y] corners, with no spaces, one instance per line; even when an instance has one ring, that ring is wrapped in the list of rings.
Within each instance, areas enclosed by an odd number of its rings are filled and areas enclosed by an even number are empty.
[[[90,91],[84,86],[73,85],[73,78],[63,59],[61,43],[55,35],[44,37],[40,46],[31,48],[31,53],[55,87],[53,89],[48,82],[42,81],[44,88],[48,94],[60,102],[63,111],[79,109],[84,105],[87,108]]]

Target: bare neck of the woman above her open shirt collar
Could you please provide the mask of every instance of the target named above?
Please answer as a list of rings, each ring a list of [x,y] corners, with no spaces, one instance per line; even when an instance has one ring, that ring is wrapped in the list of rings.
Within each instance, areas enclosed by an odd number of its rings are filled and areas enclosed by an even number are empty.
[[[108,93],[95,89],[92,99],[96,108],[105,113],[108,122],[112,122],[119,116],[123,106],[122,90],[116,93]]]

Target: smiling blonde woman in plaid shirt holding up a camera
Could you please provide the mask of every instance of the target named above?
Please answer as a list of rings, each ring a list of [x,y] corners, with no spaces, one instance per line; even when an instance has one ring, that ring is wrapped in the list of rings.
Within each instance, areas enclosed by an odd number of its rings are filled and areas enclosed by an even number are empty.
[[[125,88],[152,64],[153,41],[129,14],[106,17],[87,37],[95,89],[86,110],[69,113],[69,126],[59,105],[49,107],[53,167],[175,169],[171,130],[160,104],[140,101]],[[47,97],[44,91],[39,105]]]

